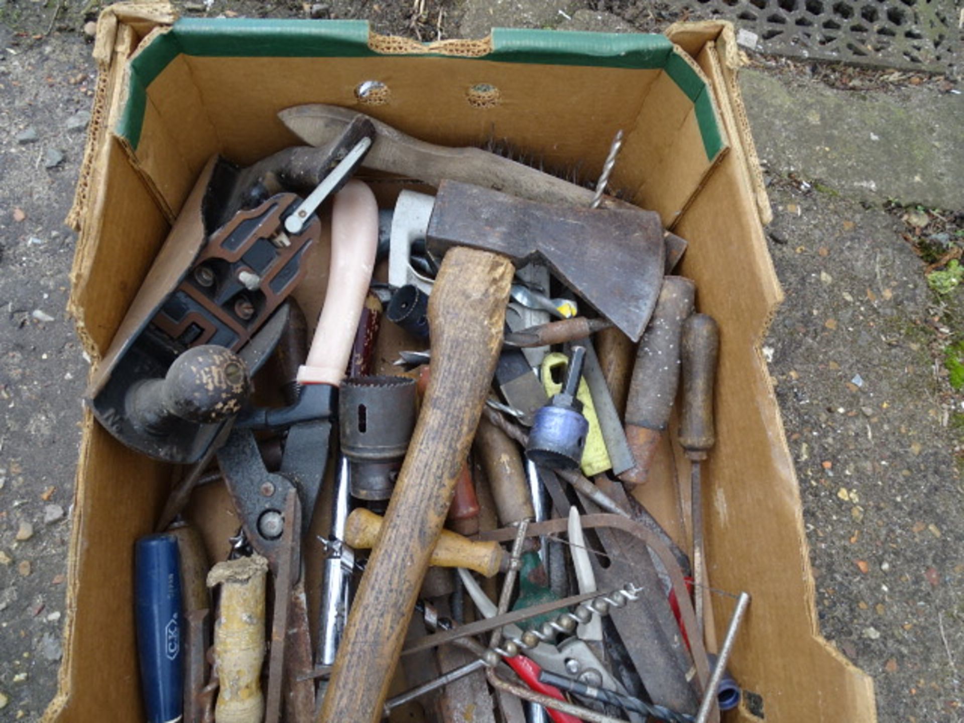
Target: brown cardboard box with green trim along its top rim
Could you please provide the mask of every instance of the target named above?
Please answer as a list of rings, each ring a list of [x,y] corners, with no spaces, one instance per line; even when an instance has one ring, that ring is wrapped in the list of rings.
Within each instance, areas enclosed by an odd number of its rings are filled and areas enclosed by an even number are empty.
[[[94,54],[94,119],[70,215],[80,231],[70,311],[94,365],[209,157],[247,164],[295,143],[276,119],[282,108],[358,108],[450,146],[495,135],[548,167],[581,164],[588,175],[624,129],[613,185],[688,239],[682,273],[722,330],[718,441],[704,472],[710,579],[753,596],[730,666],[753,695],[730,719],[875,719],[870,679],[817,629],[797,483],[760,353],[782,294],[763,237],[769,210],[730,25],[676,25],[666,37],[495,30],[486,40],[421,45],[371,34],[363,22],[174,22],[164,4],[120,4],[101,16]],[[368,80],[384,88],[362,98],[356,90]],[[325,268],[324,252],[316,255]],[[323,277],[302,292],[309,318]],[[669,461],[664,450],[667,476]],[[171,480],[171,469],[85,415],[65,656],[45,720],[143,719],[132,551]],[[671,480],[644,495],[683,540]],[[216,490],[196,497],[211,552],[223,554],[229,505]],[[714,596],[720,634],[732,604]]]

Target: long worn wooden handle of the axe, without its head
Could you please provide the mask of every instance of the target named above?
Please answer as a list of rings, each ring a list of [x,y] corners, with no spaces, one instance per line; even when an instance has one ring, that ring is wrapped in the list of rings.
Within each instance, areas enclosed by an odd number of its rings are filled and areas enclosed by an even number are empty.
[[[453,248],[442,260],[428,308],[432,378],[319,723],[382,719],[418,589],[492,385],[513,273],[507,258],[485,251]]]

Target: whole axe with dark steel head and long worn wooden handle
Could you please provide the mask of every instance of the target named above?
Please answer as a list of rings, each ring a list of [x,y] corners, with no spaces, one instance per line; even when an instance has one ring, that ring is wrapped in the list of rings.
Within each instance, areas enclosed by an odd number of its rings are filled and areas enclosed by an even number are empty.
[[[480,211],[480,202],[501,228],[477,218],[469,221],[469,211]],[[656,303],[664,253],[656,216],[650,226],[640,223],[643,218],[651,217],[609,210],[562,212],[442,183],[426,239],[433,254],[444,255],[429,303],[436,355],[432,379],[380,544],[352,606],[320,721],[350,716],[374,723],[382,714],[431,546],[441,532],[495,371],[513,262],[542,255],[577,293],[638,337]],[[606,243],[589,244],[588,238]],[[615,290],[609,273],[613,267],[621,267],[630,280]]]

